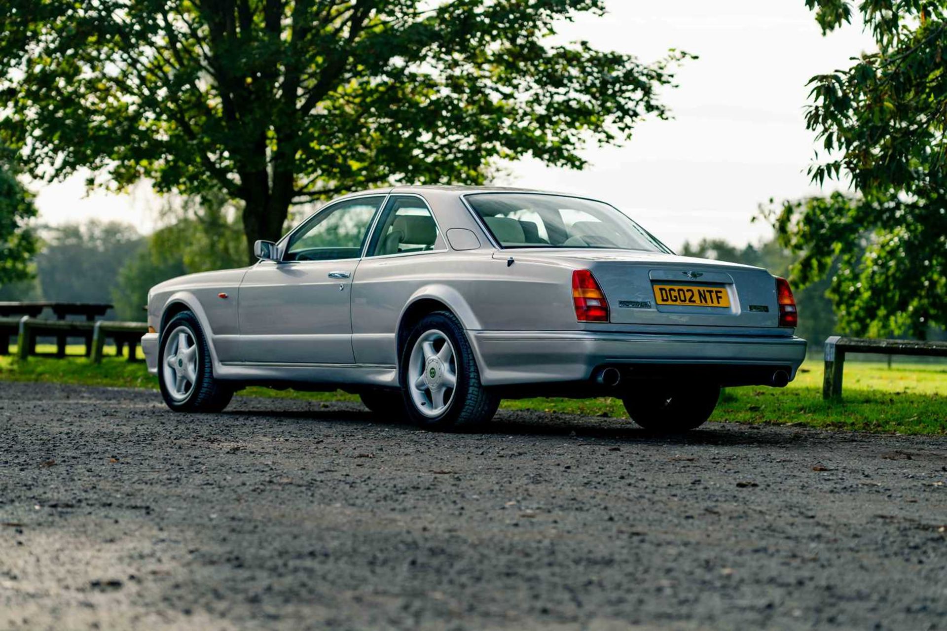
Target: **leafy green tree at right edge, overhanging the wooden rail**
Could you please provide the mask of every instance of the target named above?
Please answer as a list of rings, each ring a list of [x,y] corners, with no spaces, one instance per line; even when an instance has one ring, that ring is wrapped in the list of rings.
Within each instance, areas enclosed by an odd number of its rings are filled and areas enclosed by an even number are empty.
[[[850,22],[846,0],[806,0],[823,32]],[[829,271],[844,330],[924,337],[947,325],[947,3],[858,5],[877,52],[812,79],[807,125],[824,160],[813,181],[855,195],[784,202],[768,217],[802,254],[803,283]]]

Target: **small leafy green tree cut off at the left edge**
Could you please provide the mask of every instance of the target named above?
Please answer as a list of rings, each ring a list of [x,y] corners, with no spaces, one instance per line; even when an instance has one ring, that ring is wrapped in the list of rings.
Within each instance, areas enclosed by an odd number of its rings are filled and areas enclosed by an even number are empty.
[[[18,174],[12,152],[0,147],[0,288],[27,280],[29,261],[36,254],[36,236],[28,225],[36,207]]]

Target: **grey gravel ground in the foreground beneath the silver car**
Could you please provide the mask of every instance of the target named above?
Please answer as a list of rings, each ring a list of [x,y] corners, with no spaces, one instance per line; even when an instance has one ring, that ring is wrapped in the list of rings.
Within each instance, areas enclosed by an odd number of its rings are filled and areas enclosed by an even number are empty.
[[[945,481],[942,437],[0,383],[0,628],[945,628]]]

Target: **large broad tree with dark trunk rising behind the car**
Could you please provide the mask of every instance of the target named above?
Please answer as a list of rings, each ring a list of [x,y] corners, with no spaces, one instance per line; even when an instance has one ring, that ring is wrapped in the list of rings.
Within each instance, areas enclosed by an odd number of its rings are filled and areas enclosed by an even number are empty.
[[[578,168],[586,142],[665,117],[657,92],[687,54],[546,43],[604,4],[5,0],[0,139],[47,180],[88,167],[90,184],[221,188],[243,202],[252,258],[292,203],[479,184],[498,159]]]

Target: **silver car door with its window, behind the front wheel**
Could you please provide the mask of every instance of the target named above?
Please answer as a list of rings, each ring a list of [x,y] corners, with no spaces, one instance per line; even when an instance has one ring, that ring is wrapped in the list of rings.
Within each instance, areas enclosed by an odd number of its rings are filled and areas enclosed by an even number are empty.
[[[279,261],[259,261],[240,289],[245,362],[354,363],[349,283],[384,195],[332,203],[296,229]]]

